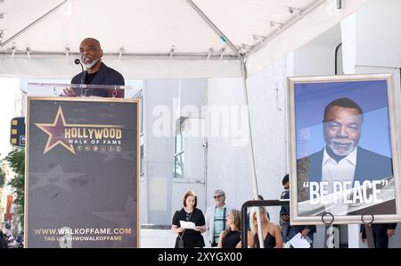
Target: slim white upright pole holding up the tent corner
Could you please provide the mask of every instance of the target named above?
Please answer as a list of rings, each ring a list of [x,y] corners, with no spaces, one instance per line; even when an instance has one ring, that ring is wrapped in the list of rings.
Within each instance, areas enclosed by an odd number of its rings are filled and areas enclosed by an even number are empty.
[[[253,149],[253,139],[252,139],[252,129],[250,127],[250,104],[248,99],[248,86],[247,86],[247,66],[245,64],[245,59],[241,57],[241,77],[242,77],[242,89],[244,95],[245,106],[248,112],[248,132],[250,133],[250,145],[248,145],[248,152],[250,154],[250,180],[252,182],[253,187],[253,198],[254,200],[259,199],[258,193],[258,179],[256,173],[256,163],[255,163],[255,153]],[[260,209],[257,207],[257,222],[258,222],[258,239],[259,239],[259,247],[264,248],[264,239],[263,239],[263,230],[262,230],[262,222],[260,216]]]

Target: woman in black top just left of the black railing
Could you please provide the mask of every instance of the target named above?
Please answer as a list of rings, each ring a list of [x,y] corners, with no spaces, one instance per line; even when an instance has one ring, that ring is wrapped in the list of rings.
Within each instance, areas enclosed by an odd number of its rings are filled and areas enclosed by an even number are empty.
[[[230,210],[227,213],[227,226],[218,239],[219,248],[241,247],[241,212]]]

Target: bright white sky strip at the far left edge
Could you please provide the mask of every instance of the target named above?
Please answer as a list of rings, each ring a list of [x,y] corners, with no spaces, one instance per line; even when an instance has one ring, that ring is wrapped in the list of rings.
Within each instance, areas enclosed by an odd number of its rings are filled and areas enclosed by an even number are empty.
[[[20,79],[0,78],[0,159],[11,150],[11,121],[15,114],[15,98],[20,92]]]

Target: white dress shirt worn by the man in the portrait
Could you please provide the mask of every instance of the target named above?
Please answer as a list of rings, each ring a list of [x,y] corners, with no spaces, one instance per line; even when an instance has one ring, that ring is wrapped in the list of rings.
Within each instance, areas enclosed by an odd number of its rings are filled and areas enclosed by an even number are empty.
[[[327,153],[326,148],[323,151],[322,162],[322,181],[328,182],[329,194],[333,193],[334,181],[354,181],[354,174],[356,169],[356,152],[354,149],[345,158],[336,162]],[[345,215],[348,212],[348,204],[344,204],[343,197],[340,197],[337,204],[327,204],[326,212],[331,212],[333,215]]]

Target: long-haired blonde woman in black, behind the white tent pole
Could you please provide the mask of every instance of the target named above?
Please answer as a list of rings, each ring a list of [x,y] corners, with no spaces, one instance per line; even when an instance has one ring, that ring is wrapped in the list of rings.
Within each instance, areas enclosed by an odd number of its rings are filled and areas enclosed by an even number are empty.
[[[254,207],[250,212],[250,234],[248,237],[248,243],[250,247],[259,247],[258,238],[258,222],[257,222],[257,210],[258,207]],[[274,224],[267,219],[266,209],[259,207],[263,243],[265,248],[282,248],[282,230],[278,225]]]

